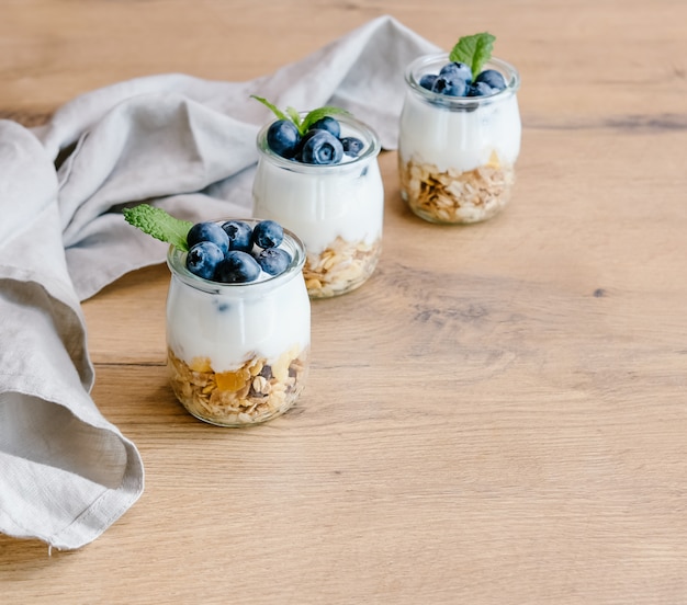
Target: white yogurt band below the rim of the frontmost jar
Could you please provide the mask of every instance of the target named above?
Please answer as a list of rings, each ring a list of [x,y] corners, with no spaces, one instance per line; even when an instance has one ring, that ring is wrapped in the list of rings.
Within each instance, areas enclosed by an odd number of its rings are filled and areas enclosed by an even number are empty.
[[[311,307],[301,275],[261,296],[237,295],[236,286],[229,289],[209,294],[172,276],[167,342],[177,357],[189,365],[195,357],[207,357],[214,372],[226,372],[255,356],[273,363],[289,350],[309,345]]]

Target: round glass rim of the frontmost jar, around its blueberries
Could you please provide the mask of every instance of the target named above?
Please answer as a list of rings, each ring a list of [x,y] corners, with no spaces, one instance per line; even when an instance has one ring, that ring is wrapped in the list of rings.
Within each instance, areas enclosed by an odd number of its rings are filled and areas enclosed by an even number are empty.
[[[227,220],[241,220],[244,222],[248,222],[251,228],[254,228],[258,222],[264,220],[262,218],[218,218],[212,219],[213,222],[223,224]],[[194,273],[191,273],[185,266],[185,255],[188,252],[180,250],[173,244],[170,246],[167,250],[167,266],[171,272],[172,276],[178,277],[181,282],[191,286],[192,288],[206,292],[210,294],[225,294],[225,293],[236,293],[236,292],[246,292],[250,290],[251,293],[257,293],[263,288],[272,288],[281,282],[289,282],[296,275],[299,275],[303,266],[305,265],[305,244],[303,240],[299,238],[293,231],[282,227],[284,230],[284,240],[282,246],[288,248],[288,252],[291,253],[291,262],[289,266],[278,275],[268,275],[266,278],[255,282],[241,282],[241,283],[223,283],[223,282],[213,282],[212,279],[205,279],[204,277],[200,277]]]

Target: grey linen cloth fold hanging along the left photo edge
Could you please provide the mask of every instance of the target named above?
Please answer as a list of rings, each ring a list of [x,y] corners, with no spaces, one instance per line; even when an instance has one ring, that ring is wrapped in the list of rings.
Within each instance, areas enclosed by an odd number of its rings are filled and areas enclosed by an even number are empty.
[[[78,548],[137,500],[143,464],[89,395],[55,168],[14,123],[0,122],[0,530]],[[94,509],[108,518],[75,524]]]

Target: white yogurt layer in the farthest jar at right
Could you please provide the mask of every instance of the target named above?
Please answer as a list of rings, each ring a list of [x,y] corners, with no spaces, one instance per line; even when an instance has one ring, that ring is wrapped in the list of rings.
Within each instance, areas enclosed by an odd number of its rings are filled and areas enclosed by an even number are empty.
[[[515,94],[480,105],[474,111],[451,111],[406,93],[401,115],[398,152],[435,164],[439,171],[473,170],[495,152],[502,164],[514,164],[520,152],[520,114]]]

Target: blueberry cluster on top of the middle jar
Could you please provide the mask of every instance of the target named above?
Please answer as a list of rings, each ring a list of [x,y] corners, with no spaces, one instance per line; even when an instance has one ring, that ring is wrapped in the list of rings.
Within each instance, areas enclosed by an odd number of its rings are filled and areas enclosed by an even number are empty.
[[[320,165],[339,163],[344,156],[357,158],[364,147],[359,138],[341,137],[341,125],[331,116],[313,123],[303,136],[290,119],[278,119],[268,128],[267,144],[282,158]]]

